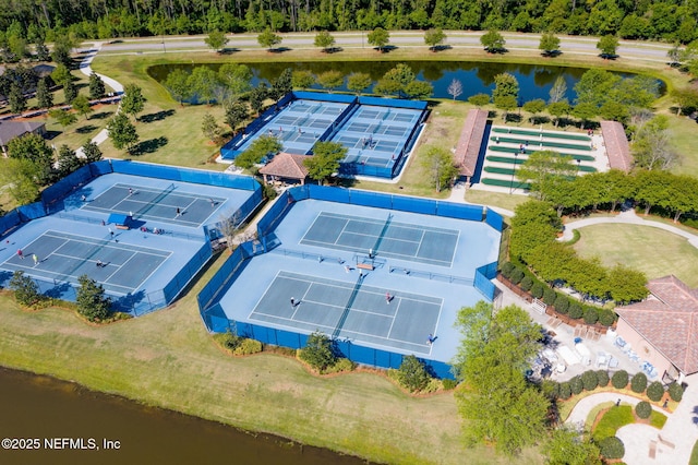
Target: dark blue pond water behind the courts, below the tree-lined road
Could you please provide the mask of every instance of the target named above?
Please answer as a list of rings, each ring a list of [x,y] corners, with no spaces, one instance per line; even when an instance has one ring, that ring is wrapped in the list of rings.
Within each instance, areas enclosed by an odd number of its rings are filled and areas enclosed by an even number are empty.
[[[494,88],[494,76],[508,72],[516,76],[519,82],[519,102],[528,102],[534,98],[542,98],[547,102],[550,98],[550,90],[557,76],[563,76],[567,84],[567,98],[574,102],[576,95],[573,91],[575,84],[581,75],[587,71],[586,68],[566,68],[556,65],[541,64],[516,64],[516,63],[493,63],[493,62],[473,62],[473,61],[407,61],[418,79],[429,81],[434,86],[435,98],[452,98],[448,94],[448,85],[456,79],[461,82],[464,93],[458,97],[465,100],[471,95],[485,93],[491,94]],[[286,68],[293,70],[309,70],[315,75],[325,71],[340,71],[345,76],[352,72],[364,72],[371,75],[373,81],[377,81],[386,71],[394,68],[395,61],[313,61],[297,63],[246,63],[254,73],[254,82],[269,82],[275,80]],[[148,69],[148,74],[158,82],[165,81],[167,74],[180,68],[184,71],[191,70],[200,64],[158,64]],[[220,64],[209,64],[212,69],[218,70]],[[631,76],[633,74],[622,73],[623,76]],[[660,84],[663,92],[663,83]],[[314,88],[321,88],[315,85]],[[340,87],[339,91],[347,91]],[[366,92],[370,92],[369,88]]]

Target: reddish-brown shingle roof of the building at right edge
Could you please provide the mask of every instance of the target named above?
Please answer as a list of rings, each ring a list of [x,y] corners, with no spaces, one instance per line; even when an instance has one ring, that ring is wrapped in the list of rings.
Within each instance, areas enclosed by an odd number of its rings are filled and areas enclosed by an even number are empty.
[[[681,371],[698,372],[698,289],[673,275],[647,287],[649,298],[616,312]]]

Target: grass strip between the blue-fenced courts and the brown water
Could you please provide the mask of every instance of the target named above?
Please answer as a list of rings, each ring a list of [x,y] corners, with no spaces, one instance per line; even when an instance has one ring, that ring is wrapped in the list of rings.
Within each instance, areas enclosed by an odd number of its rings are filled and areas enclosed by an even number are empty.
[[[510,463],[464,448],[453,393],[414,398],[373,373],[316,378],[292,358],[225,355],[194,297],[226,257],[171,308],[104,327],[58,308],[23,311],[2,294],[0,365],[376,462]],[[541,461],[528,450],[516,463]]]

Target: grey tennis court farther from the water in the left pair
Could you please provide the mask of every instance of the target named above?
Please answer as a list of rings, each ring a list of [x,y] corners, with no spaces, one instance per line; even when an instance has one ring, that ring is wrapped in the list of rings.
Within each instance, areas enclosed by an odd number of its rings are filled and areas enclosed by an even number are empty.
[[[82,210],[104,213],[133,214],[133,219],[166,220],[182,226],[201,226],[226,199],[180,192],[174,183],[166,189],[145,186],[113,184]],[[179,215],[177,210],[179,208]]]

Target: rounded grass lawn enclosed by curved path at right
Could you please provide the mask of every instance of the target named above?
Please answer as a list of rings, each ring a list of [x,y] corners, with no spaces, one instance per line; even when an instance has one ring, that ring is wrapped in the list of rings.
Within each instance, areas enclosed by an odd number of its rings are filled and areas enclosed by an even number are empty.
[[[574,247],[583,258],[599,257],[606,266],[623,263],[648,279],[674,274],[688,286],[698,286],[698,250],[683,237],[622,224],[586,226],[579,231],[581,239]]]

